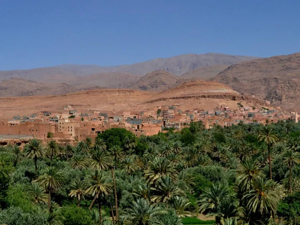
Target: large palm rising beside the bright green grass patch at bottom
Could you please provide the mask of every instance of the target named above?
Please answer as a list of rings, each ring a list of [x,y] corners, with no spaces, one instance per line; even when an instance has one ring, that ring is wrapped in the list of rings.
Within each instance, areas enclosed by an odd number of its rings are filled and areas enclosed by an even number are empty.
[[[207,215],[214,215],[216,224],[220,224],[228,194],[229,188],[222,184],[213,184],[211,188],[204,189],[200,195],[200,200],[197,202],[199,211],[201,213],[207,211]]]

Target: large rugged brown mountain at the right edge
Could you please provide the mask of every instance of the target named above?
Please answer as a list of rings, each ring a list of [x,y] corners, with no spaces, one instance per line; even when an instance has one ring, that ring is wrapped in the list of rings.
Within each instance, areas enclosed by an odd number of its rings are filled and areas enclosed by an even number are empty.
[[[269,100],[273,105],[300,108],[300,53],[233,64],[214,80],[240,93]]]

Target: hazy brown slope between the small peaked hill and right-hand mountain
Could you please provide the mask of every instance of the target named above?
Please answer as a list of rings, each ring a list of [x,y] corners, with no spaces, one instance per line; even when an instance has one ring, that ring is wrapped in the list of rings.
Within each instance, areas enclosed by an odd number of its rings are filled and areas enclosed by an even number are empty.
[[[227,68],[227,65],[210,65],[185,72],[180,75],[182,78],[208,80],[216,76],[220,71]]]

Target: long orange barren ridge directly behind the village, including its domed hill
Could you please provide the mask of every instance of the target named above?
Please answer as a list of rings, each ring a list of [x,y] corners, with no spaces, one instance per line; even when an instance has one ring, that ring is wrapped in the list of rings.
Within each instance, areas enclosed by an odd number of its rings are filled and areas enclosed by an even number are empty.
[[[224,84],[195,81],[160,93],[132,89],[95,89],[60,95],[0,97],[0,116],[11,118],[13,115],[29,115],[41,111],[51,111],[55,115],[68,110],[63,109],[65,105],[71,105],[79,111],[99,110],[114,115],[121,114],[124,110],[143,110],[160,105],[177,105],[182,110],[207,110],[223,104],[236,109],[237,102],[244,105],[263,104],[251,97],[241,96]]]

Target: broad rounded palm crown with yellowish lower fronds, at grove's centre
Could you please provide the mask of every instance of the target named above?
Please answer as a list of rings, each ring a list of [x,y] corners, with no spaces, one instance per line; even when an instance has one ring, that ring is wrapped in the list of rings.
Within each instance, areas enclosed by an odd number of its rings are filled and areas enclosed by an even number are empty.
[[[152,162],[149,163],[148,168],[144,170],[144,176],[149,184],[153,184],[156,180],[169,175],[174,178],[175,170],[172,163],[166,158],[154,158]]]

